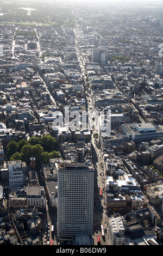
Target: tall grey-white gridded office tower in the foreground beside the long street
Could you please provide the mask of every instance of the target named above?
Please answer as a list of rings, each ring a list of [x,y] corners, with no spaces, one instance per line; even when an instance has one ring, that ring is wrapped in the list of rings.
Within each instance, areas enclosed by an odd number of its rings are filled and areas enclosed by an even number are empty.
[[[58,168],[58,239],[92,236],[94,169],[62,161]]]

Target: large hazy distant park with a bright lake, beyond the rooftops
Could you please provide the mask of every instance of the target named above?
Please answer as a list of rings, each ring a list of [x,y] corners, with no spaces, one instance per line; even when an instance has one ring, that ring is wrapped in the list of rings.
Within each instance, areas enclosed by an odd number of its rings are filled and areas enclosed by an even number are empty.
[[[28,8],[27,8],[28,7]],[[29,8],[30,7],[30,8]],[[17,25],[36,25],[43,24],[47,26],[61,27],[74,26],[74,16],[68,5],[57,5],[40,1],[39,4],[30,1],[10,3],[0,3],[1,23],[15,23]],[[31,9],[30,15],[28,9]],[[20,32],[18,32],[20,33]]]

